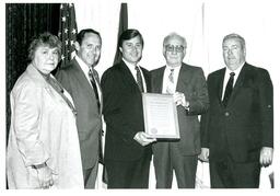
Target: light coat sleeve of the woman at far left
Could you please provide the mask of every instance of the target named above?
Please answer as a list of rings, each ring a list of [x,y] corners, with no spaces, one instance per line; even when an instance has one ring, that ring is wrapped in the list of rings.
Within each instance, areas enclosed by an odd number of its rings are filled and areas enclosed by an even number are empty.
[[[23,161],[26,166],[42,164],[49,159],[48,149],[39,138],[42,89],[25,83],[11,96],[14,109],[13,126]]]

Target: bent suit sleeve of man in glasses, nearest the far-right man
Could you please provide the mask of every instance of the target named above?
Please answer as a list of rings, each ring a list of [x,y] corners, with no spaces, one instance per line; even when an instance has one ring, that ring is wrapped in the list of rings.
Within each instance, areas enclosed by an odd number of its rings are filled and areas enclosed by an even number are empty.
[[[206,78],[201,68],[198,69],[195,80],[195,91],[189,100],[189,115],[199,115],[207,112],[209,107],[209,97]]]

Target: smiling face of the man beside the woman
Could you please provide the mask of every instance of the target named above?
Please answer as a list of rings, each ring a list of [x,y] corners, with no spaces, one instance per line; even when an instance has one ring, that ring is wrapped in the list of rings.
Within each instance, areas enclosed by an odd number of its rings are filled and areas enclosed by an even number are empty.
[[[89,66],[96,66],[101,57],[101,39],[94,33],[86,33],[81,45],[75,43],[78,56]]]

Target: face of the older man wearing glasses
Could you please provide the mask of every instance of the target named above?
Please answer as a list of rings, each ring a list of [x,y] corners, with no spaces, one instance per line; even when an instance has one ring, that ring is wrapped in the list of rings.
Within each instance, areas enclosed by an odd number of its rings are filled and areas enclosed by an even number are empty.
[[[171,37],[167,39],[164,44],[163,55],[168,66],[177,67],[182,65],[186,55],[186,48],[183,45],[183,41],[179,37]]]

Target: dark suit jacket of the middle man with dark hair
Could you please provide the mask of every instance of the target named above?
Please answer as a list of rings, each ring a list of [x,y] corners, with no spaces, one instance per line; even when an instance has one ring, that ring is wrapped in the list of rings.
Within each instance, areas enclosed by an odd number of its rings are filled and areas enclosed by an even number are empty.
[[[149,71],[141,68],[150,91]],[[124,61],[107,69],[101,81],[106,122],[106,160],[131,161],[143,155],[151,158],[151,146],[142,147],[133,137],[144,131],[142,95]]]

